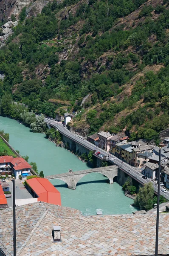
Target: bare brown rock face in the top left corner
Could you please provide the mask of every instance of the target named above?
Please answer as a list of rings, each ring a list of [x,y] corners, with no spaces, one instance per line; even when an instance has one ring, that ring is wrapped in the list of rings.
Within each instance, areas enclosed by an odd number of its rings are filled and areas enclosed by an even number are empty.
[[[33,0],[0,0],[0,20],[7,20],[12,14],[17,17],[23,7],[32,2]]]

